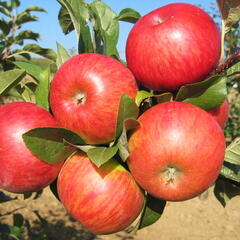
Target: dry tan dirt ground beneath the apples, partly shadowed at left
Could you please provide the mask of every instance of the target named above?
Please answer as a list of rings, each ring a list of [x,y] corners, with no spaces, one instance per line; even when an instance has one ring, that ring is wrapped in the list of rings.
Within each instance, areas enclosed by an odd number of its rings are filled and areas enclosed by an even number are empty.
[[[124,231],[106,236],[89,233],[66,213],[48,188],[37,200],[19,199],[0,204],[0,222],[12,224],[12,216],[4,214],[16,208],[22,208],[17,212],[23,214],[31,224],[29,231],[25,229],[24,240],[240,239],[240,197],[233,198],[226,208],[223,208],[214,197],[212,189],[208,191],[205,200],[197,197],[185,202],[168,203],[162,218],[152,226],[138,231],[137,235],[130,235]],[[41,222],[36,213],[45,221]]]

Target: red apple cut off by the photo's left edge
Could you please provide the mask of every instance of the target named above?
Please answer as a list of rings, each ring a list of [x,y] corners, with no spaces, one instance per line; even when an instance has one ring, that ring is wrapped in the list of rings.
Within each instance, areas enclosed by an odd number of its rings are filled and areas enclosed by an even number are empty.
[[[57,127],[45,109],[27,102],[0,106],[0,188],[14,193],[39,191],[58,175],[62,163],[48,164],[24,144],[22,134],[36,127]]]

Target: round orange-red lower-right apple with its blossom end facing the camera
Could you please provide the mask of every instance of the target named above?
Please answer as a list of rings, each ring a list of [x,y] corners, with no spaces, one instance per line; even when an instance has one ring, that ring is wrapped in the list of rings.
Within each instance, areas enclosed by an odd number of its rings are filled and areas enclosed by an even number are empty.
[[[168,201],[193,198],[219,175],[222,129],[206,111],[184,102],[158,104],[139,117],[129,139],[128,165],[137,183]]]

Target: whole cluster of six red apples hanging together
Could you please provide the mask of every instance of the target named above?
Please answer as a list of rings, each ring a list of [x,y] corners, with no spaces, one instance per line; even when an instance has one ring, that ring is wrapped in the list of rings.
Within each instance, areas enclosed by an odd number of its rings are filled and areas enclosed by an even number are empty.
[[[200,8],[169,4],[141,17],[129,33],[127,66],[100,54],[67,60],[51,82],[52,114],[26,102],[0,107],[0,188],[33,192],[57,178],[66,210],[95,234],[125,229],[139,216],[146,193],[167,201],[193,198],[219,175],[225,154],[225,100],[205,111],[170,101],[141,113],[128,136],[129,157],[97,167],[77,151],[64,163],[48,164],[24,145],[22,134],[36,127],[63,127],[89,145],[106,146],[116,136],[123,94],[139,89],[173,94],[206,79],[220,57],[220,34]]]

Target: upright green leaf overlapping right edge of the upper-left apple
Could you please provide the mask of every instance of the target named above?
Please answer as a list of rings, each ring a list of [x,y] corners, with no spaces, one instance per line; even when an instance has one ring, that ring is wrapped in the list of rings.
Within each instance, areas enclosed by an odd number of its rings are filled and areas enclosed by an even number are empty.
[[[124,121],[127,119],[136,119],[139,114],[138,106],[135,101],[123,94],[118,107],[118,117],[117,117],[117,127],[115,139],[117,139],[122,131],[124,126]]]

